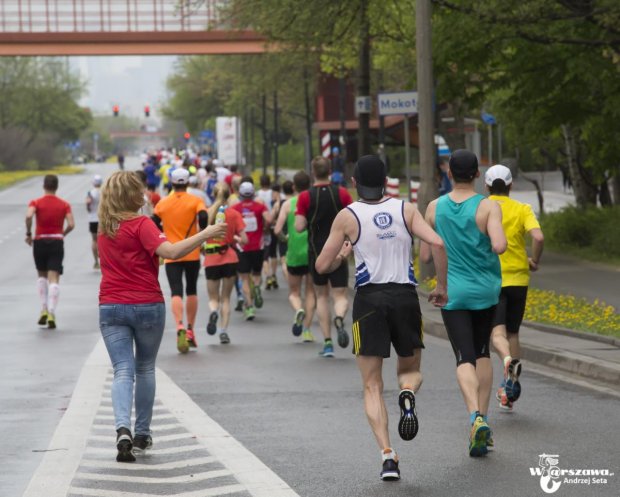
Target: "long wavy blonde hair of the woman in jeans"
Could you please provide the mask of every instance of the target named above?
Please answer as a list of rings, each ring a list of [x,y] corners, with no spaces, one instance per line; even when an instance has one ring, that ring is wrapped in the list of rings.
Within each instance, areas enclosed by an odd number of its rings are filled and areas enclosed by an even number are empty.
[[[114,238],[121,221],[139,216],[144,205],[144,184],[132,171],[117,171],[101,188],[99,231]]]

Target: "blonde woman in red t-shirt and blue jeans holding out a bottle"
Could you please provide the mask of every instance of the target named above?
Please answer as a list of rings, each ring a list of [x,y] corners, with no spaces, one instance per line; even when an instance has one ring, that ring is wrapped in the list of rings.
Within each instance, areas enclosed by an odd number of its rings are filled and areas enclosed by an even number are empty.
[[[208,238],[223,236],[227,229],[226,224],[209,226],[173,244],[151,219],[138,214],[143,204],[144,185],[133,172],[112,174],[101,189],[99,327],[114,368],[112,405],[119,462],[135,461],[133,448],[144,450],[152,445],[155,359],[166,320],[159,258],[181,258]],[[134,380],[136,426],[132,438]]]

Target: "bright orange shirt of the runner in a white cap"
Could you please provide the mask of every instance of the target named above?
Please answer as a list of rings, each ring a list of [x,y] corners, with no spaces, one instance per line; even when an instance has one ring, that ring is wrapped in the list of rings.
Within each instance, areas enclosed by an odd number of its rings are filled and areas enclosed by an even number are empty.
[[[198,233],[197,216],[200,211],[206,212],[202,200],[187,192],[172,192],[157,202],[153,214],[161,219],[164,234],[171,243],[176,243]],[[189,254],[176,261],[166,259],[166,262],[199,261],[200,249],[192,250]]]

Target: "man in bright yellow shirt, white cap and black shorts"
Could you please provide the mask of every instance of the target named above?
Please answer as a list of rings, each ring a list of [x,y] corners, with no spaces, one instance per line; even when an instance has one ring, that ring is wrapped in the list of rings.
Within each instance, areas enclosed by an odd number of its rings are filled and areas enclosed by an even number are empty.
[[[521,394],[521,349],[519,327],[525,313],[530,271],[536,271],[543,251],[544,237],[540,224],[528,204],[509,197],[512,187],[510,169],[497,164],[486,172],[489,198],[502,208],[502,225],[508,241],[506,252],[499,256],[502,266],[502,290],[495,309],[491,341],[504,363],[504,380],[497,391],[501,408],[512,410]],[[525,234],[532,238],[532,255],[525,249]]]

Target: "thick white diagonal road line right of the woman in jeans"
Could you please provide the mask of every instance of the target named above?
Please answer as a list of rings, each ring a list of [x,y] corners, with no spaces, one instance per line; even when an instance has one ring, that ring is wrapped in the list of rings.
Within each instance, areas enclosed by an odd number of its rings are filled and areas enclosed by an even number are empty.
[[[157,370],[158,397],[209,453],[233,473],[254,497],[299,497],[258,457],[211,419],[163,371]]]

